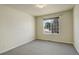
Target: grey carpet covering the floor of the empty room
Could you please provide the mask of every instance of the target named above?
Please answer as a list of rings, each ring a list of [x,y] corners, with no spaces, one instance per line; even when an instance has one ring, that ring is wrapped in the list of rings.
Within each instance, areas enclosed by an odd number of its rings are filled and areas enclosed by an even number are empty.
[[[77,55],[72,45],[34,40],[2,55]]]

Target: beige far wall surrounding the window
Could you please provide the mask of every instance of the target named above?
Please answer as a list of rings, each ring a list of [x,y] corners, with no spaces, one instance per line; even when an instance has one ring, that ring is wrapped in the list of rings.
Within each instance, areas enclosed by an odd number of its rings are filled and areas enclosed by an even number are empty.
[[[68,10],[56,14],[49,14],[36,17],[36,39],[72,43],[73,42],[73,11]],[[60,33],[55,35],[45,35],[43,33],[43,18],[60,16]]]

